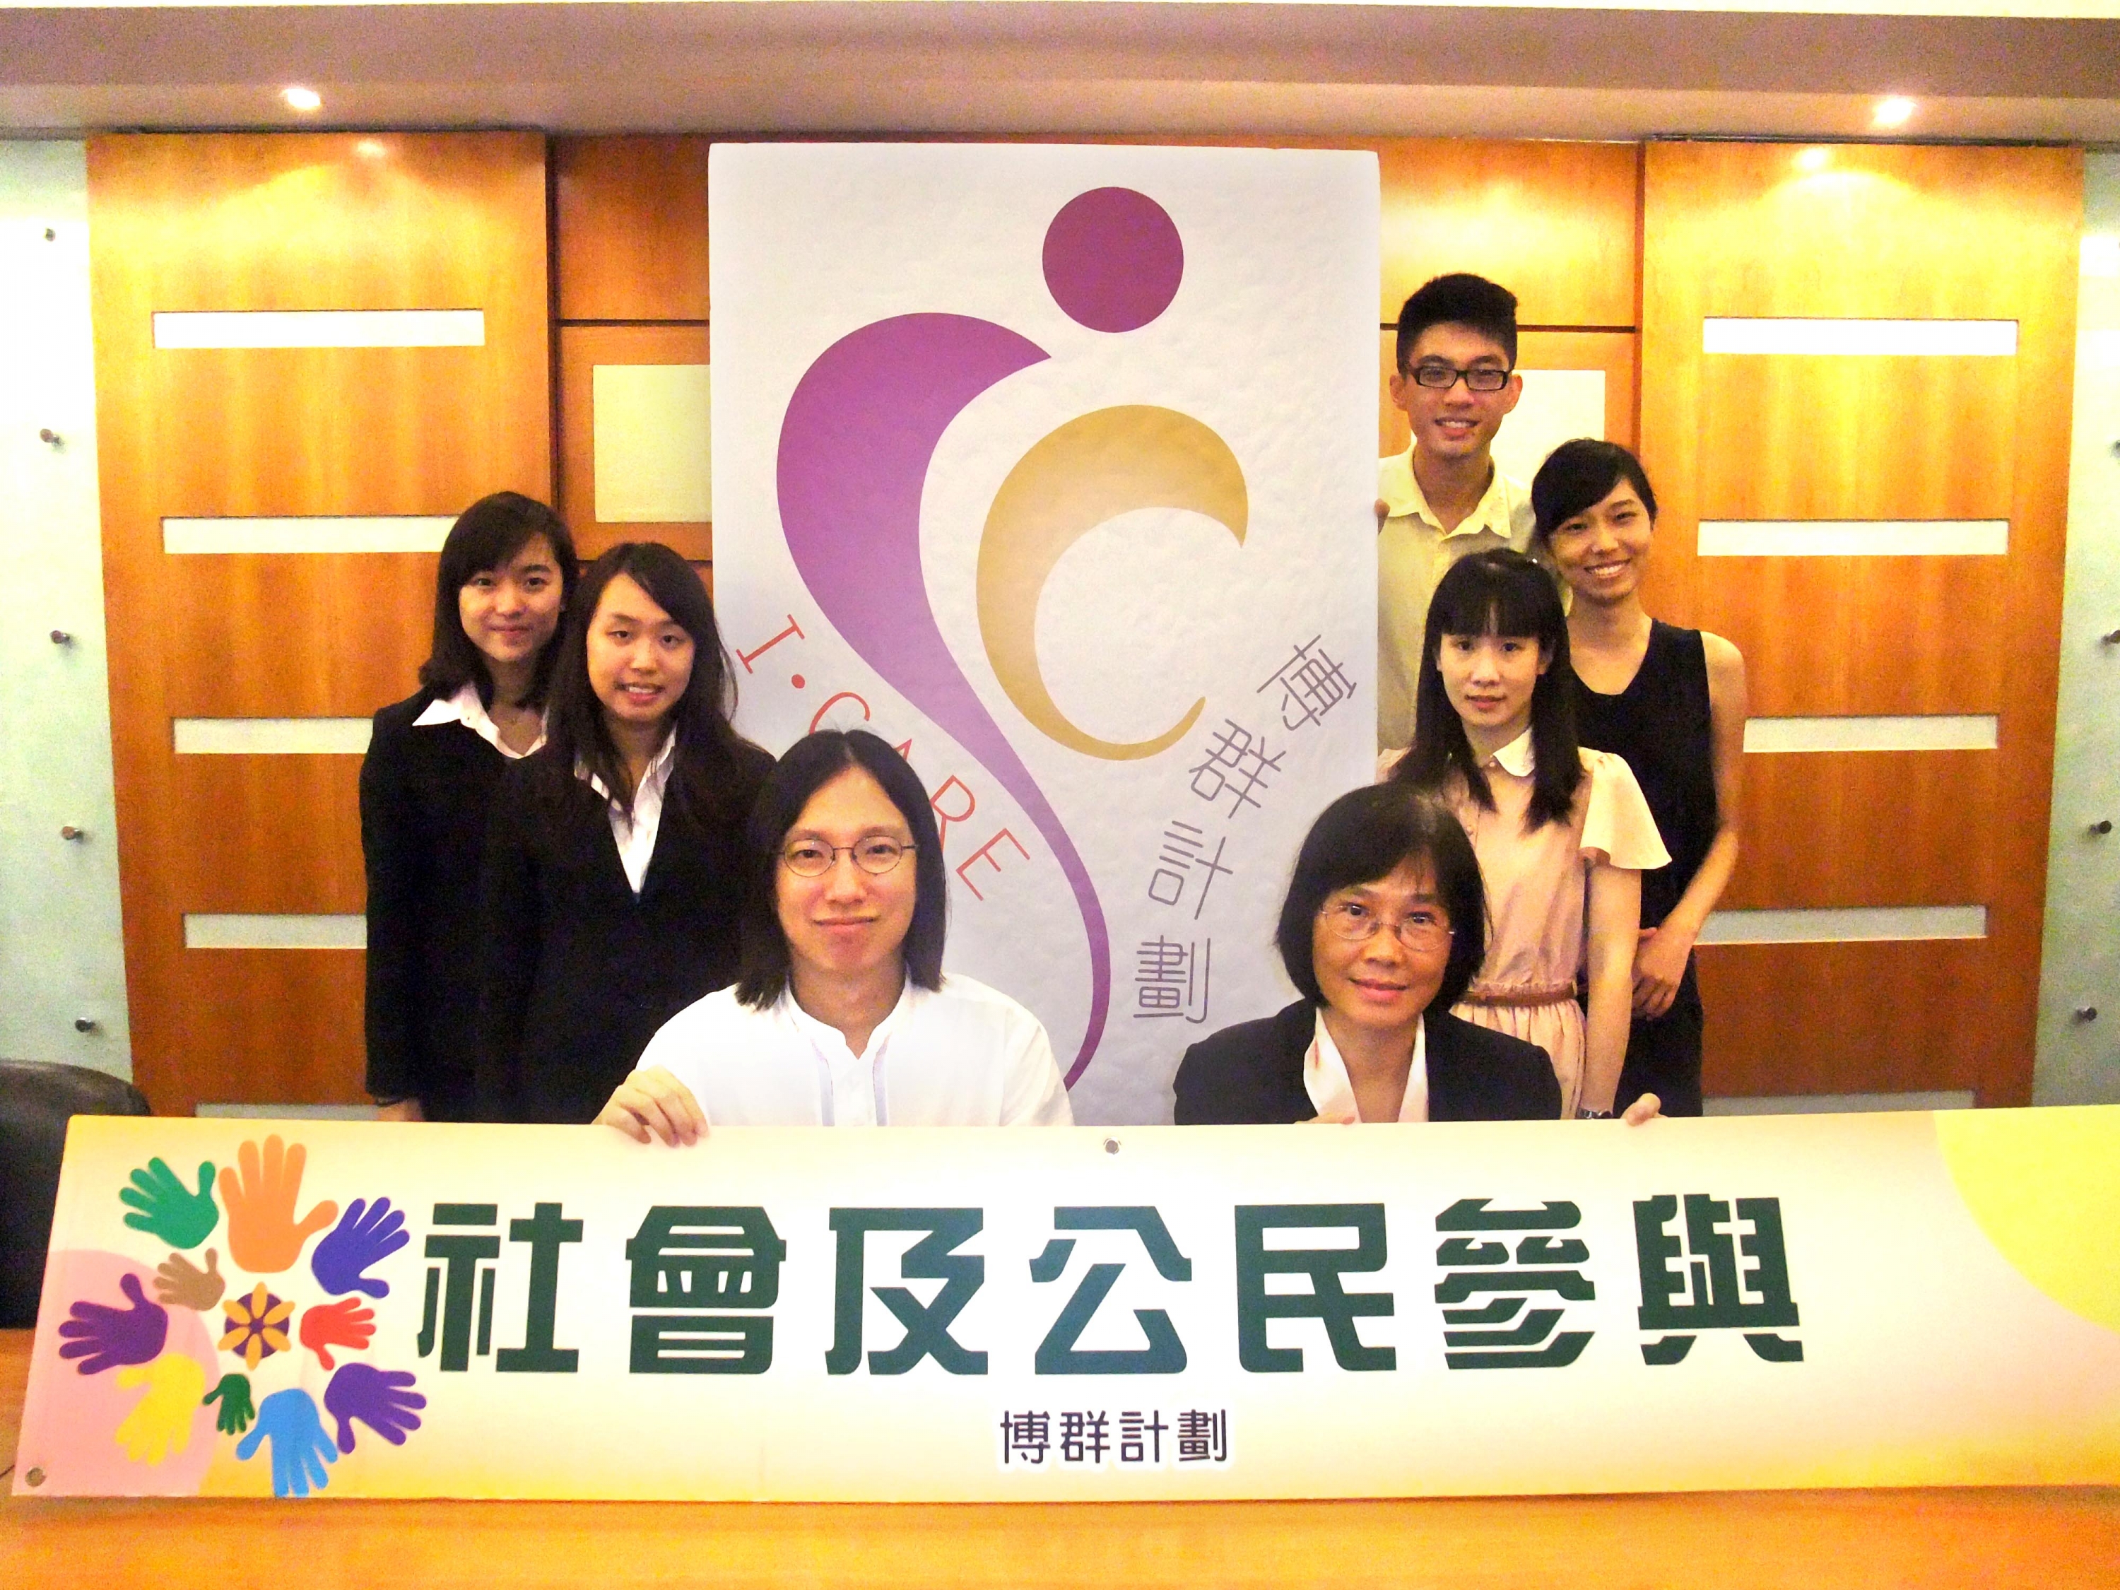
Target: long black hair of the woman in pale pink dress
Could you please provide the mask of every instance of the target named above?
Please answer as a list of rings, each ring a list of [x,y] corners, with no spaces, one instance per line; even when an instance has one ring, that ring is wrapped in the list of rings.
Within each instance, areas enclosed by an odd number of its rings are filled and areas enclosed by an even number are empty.
[[[1575,738],[1575,693],[1569,676],[1569,615],[1552,570],[1520,551],[1495,547],[1450,564],[1429,598],[1429,628],[1420,636],[1420,672],[1414,678],[1414,744],[1391,776],[1439,793],[1450,772],[1465,778],[1473,801],[1495,810],[1495,787],[1471,755],[1465,723],[1450,706],[1437,657],[1444,636],[1531,636],[1545,655],[1545,672],[1531,691],[1531,806],[1524,831],[1567,823],[1582,787],[1582,742]]]

